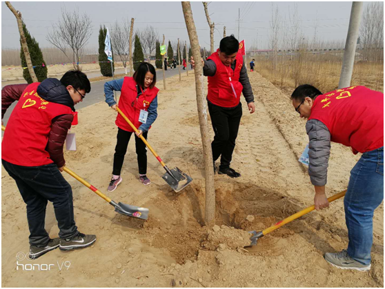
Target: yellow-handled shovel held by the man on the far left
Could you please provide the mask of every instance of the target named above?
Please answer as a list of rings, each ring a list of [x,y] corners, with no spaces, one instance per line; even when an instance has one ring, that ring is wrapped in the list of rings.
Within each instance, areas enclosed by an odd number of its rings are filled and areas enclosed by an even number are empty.
[[[6,130],[5,126],[1,126],[1,130]],[[75,172],[72,172],[69,168],[64,167],[63,170],[67,172],[69,175],[83,183],[84,186],[92,190],[92,192],[95,192],[99,197],[106,200],[110,205],[114,206],[115,212],[119,212],[121,215],[126,215],[130,217],[135,217],[138,219],[148,219],[148,208],[139,208],[137,206],[132,205],[126,205],[126,203],[116,203],[115,201],[112,201],[109,197],[104,195],[100,190],[92,186],[90,183],[88,183],[86,180],[79,177]]]

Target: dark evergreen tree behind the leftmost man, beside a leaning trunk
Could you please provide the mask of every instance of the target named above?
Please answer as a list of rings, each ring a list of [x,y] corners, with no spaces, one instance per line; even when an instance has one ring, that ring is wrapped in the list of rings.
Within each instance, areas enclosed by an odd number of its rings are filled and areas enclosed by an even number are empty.
[[[26,24],[23,23],[23,31],[26,36],[26,41],[28,45],[28,50],[30,51],[30,57],[32,61],[32,66],[34,68],[34,74],[36,74],[37,80],[39,82],[47,78],[47,64],[43,59],[43,53],[41,53],[39,43],[30,35],[30,32],[26,28]],[[20,42],[21,46],[21,42]],[[21,47],[20,51],[21,67],[27,67],[26,56],[24,55],[23,48]],[[23,69],[23,77],[28,83],[32,83],[32,78],[28,69]]]

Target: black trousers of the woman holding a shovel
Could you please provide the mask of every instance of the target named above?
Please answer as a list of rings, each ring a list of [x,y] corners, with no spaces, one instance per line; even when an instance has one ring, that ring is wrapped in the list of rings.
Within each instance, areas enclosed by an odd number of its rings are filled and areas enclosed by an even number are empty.
[[[115,147],[114,155],[114,169],[112,175],[119,176],[121,173],[121,167],[123,166],[124,156],[127,152],[128,141],[130,141],[131,134],[133,132],[127,132],[118,128],[117,134],[117,146]],[[143,137],[147,139],[148,132],[143,133]],[[146,175],[147,173],[147,148],[146,144],[135,135],[135,147],[137,149],[139,174]]]

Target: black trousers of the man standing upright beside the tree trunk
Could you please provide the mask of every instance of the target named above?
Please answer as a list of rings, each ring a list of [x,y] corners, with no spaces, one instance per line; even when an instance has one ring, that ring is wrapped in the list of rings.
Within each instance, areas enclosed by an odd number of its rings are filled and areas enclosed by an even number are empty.
[[[222,108],[208,102],[208,112],[215,132],[214,141],[211,143],[213,161],[221,156],[219,168],[229,168],[242,117],[241,103],[235,108]]]

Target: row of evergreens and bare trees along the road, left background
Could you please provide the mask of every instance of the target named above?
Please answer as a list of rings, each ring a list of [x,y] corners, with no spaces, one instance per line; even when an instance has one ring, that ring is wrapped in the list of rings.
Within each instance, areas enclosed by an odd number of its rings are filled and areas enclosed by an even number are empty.
[[[92,34],[92,21],[86,13],[81,14],[79,10],[75,8],[74,11],[68,11],[63,8],[61,12],[61,19],[52,26],[52,30],[47,34],[46,39],[52,43],[55,48],[63,52],[70,63],[73,63],[74,68],[81,66],[82,52],[88,43],[88,40]],[[160,54],[160,41],[159,34],[152,26],[147,26],[143,30],[137,30],[135,36],[132,37],[134,19],[129,22],[128,19],[124,19],[121,23],[116,21],[110,28],[110,39],[112,43],[112,52],[114,61],[121,61],[123,63],[126,74],[130,71],[136,70],[139,64],[148,59],[152,52],[156,52],[155,64],[157,68],[162,68],[164,62],[161,61]],[[47,78],[48,69],[46,61],[43,59],[43,53],[39,47],[39,43],[32,37],[26,24],[23,23],[23,32],[26,37],[26,43],[30,50],[30,59],[34,72],[38,81],[43,81]],[[107,59],[107,55],[104,53],[104,41],[106,39],[107,28],[106,26],[100,26],[99,28],[99,65],[101,74],[106,77],[112,76],[112,71],[115,70],[115,66]],[[134,38],[134,39],[132,39]],[[131,53],[131,43],[134,43],[133,54]],[[184,43],[182,41],[181,43]],[[187,45],[187,43],[186,43]],[[175,53],[178,52],[179,54]],[[167,58],[168,61],[172,61],[173,58],[180,64],[181,59],[190,59],[191,48],[188,48],[188,55],[184,46],[178,46],[177,41],[168,41]],[[176,54],[176,56],[175,56]],[[178,58],[180,56],[181,59]],[[27,61],[21,48],[20,53],[21,66],[26,67]],[[116,58],[116,60],[115,60]],[[119,60],[118,60],[119,59]],[[131,66],[128,70],[128,66]],[[33,80],[30,77],[28,69],[23,70],[23,77],[28,83],[32,83]]]

